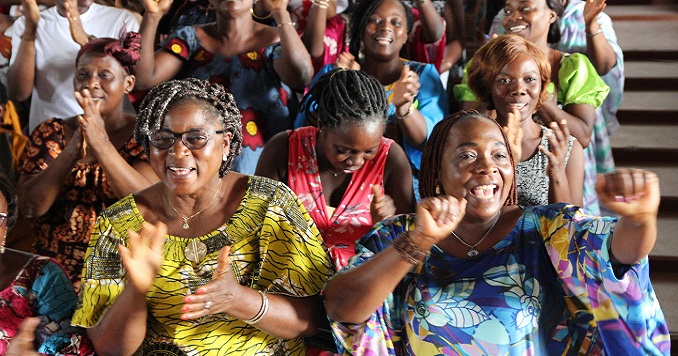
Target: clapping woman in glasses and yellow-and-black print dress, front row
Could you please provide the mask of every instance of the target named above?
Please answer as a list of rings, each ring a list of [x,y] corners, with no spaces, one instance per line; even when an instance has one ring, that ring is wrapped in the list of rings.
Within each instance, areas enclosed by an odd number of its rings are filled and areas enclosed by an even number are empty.
[[[92,231],[72,322],[97,353],[305,354],[334,268],[286,185],[229,171],[240,118],[221,85],[194,78],[144,98],[134,137],[161,182]]]

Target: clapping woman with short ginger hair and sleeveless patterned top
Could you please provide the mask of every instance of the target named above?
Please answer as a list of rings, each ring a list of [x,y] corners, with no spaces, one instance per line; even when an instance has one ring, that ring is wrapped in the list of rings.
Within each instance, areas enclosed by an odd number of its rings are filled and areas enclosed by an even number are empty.
[[[519,162],[518,204],[563,202],[582,206],[581,145],[570,136],[567,122],[551,122],[548,128],[532,120],[532,114],[550,100],[546,91],[550,73],[548,59],[534,44],[519,36],[502,35],[473,56],[468,85],[478,101],[495,109],[500,125],[514,129],[510,121],[520,122],[522,139],[510,142],[514,159]]]

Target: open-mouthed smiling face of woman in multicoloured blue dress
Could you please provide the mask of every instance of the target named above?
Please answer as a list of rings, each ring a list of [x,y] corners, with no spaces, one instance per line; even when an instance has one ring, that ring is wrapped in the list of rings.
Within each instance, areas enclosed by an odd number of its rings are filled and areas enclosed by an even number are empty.
[[[494,216],[513,182],[513,166],[501,129],[488,118],[469,117],[450,129],[442,154],[445,194],[468,201],[466,215]]]

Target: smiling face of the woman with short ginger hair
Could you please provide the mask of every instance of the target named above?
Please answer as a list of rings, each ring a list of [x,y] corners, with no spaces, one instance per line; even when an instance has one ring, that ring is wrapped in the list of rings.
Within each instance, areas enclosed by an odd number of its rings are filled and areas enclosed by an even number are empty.
[[[490,91],[497,120],[505,122],[513,108],[520,110],[522,120],[531,120],[541,95],[541,74],[537,62],[527,54],[519,54],[499,71]]]

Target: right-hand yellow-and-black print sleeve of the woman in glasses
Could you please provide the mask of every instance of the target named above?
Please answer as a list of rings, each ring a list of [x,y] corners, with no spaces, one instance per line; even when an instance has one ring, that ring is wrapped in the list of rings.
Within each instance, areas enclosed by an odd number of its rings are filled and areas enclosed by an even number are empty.
[[[289,296],[316,295],[334,274],[320,232],[286,185],[270,184],[277,190],[259,230],[263,261],[259,284]]]

